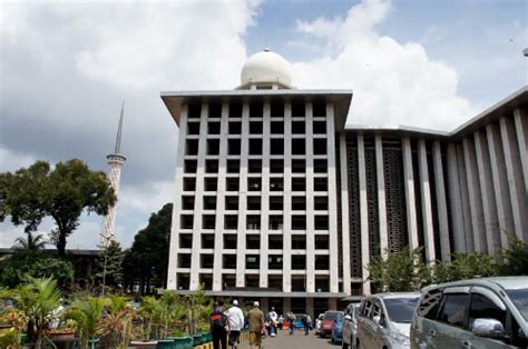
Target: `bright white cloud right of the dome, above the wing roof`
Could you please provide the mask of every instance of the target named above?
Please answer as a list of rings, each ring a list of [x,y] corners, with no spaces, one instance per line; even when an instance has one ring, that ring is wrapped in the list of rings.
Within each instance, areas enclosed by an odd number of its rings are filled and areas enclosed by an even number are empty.
[[[294,64],[301,88],[352,88],[348,123],[405,124],[450,130],[476,112],[458,94],[457,72],[431,60],[423,47],[381,36],[375,26],[390,2],[365,0],[344,18],[297,22],[329,54]]]

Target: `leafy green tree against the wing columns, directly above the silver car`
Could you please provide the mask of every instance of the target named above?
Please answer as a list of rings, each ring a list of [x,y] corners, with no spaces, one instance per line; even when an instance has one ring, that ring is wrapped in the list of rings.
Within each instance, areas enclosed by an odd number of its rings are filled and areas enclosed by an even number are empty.
[[[370,280],[375,291],[419,291],[431,282],[431,270],[423,261],[422,248],[408,248],[390,253],[385,259],[372,258],[369,265]]]

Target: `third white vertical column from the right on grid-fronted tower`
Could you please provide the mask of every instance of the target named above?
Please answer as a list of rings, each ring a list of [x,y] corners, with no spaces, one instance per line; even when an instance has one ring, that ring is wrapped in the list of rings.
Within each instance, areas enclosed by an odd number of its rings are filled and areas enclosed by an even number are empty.
[[[283,197],[292,197],[292,103],[284,103],[284,189]],[[283,291],[292,291],[292,200],[284,200],[283,202],[284,217],[284,239],[283,239],[283,270],[282,283]],[[284,307],[286,307],[284,299]],[[289,303],[290,307],[290,303]],[[290,308],[285,308],[290,309]]]

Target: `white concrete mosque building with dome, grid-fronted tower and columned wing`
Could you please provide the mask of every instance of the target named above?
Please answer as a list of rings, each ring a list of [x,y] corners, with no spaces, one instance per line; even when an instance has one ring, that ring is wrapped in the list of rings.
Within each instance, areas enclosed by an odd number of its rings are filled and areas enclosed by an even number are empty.
[[[267,49],[234,90],[162,92],[179,128],[168,289],[313,316],[371,292],[372,256],[528,242],[528,87],[451,132],[346,127],[352,97],[293,88]]]

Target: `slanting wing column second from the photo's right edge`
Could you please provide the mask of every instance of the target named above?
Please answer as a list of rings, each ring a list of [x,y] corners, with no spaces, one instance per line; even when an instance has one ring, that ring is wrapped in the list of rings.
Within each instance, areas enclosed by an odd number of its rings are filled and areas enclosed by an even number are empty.
[[[528,241],[528,196],[526,195],[518,142],[512,120],[500,118],[500,134],[505,151],[506,172],[510,189],[511,210],[514,212],[515,236]]]

